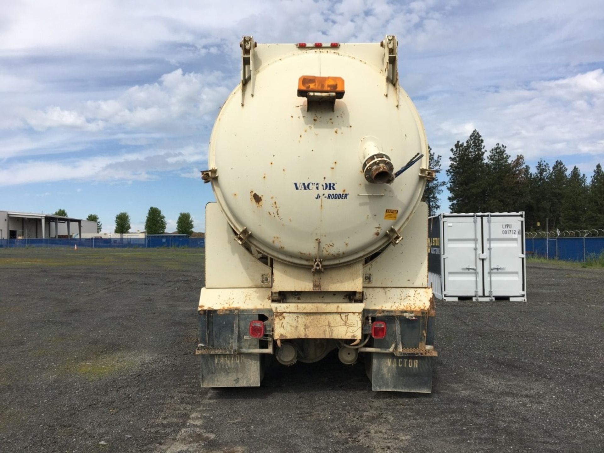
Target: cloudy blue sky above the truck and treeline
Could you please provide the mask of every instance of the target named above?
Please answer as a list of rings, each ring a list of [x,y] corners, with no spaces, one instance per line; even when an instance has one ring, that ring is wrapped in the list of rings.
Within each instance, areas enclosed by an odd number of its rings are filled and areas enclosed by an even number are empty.
[[[399,40],[400,83],[432,148],[472,129],[528,164],[604,163],[604,7],[576,1],[11,1],[0,12],[0,209],[150,206],[204,230],[214,118],[239,40]],[[443,194],[443,209],[448,202]]]

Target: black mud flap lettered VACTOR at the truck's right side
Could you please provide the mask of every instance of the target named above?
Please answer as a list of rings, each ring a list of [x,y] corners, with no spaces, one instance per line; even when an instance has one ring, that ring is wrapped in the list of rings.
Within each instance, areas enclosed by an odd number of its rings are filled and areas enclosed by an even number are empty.
[[[372,353],[368,374],[376,391],[432,392],[433,357]]]

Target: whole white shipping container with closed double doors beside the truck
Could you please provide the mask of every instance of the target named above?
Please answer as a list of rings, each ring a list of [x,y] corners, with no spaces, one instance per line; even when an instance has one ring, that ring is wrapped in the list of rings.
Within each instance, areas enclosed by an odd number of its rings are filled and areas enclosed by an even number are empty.
[[[526,301],[524,212],[440,214],[428,228],[435,297]]]

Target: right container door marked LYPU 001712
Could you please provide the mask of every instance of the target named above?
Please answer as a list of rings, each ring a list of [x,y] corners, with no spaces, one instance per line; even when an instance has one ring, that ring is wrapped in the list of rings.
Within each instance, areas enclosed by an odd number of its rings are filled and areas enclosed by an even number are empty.
[[[521,216],[483,218],[487,259],[484,260],[484,295],[523,297],[524,219]]]

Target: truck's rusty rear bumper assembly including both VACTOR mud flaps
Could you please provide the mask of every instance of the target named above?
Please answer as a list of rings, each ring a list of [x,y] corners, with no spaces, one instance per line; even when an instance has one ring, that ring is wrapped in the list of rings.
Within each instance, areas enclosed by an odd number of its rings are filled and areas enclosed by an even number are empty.
[[[358,351],[365,356],[373,390],[431,391],[432,362],[438,355],[432,304],[390,300],[391,308],[385,309],[372,304],[371,298],[356,303],[271,303],[252,291],[246,292],[247,302],[239,306],[222,304],[213,309],[210,304],[200,304],[196,354],[201,361],[202,387],[260,385],[263,364],[282,342],[314,338],[348,345],[367,339]],[[413,291],[408,294],[425,296],[425,292]],[[424,308],[418,308],[420,305]],[[260,339],[249,336],[249,323],[256,320],[265,324]],[[370,337],[374,321],[386,323],[385,338]]]

